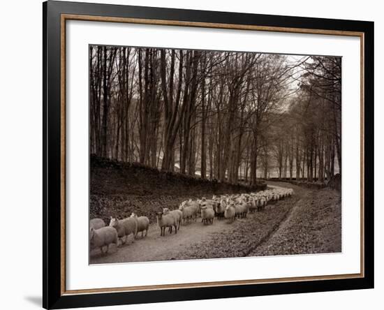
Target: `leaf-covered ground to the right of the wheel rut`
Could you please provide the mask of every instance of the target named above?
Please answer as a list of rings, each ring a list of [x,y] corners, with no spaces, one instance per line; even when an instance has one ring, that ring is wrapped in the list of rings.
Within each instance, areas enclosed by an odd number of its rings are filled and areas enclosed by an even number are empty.
[[[249,256],[337,252],[341,252],[341,196],[320,189],[307,192]]]

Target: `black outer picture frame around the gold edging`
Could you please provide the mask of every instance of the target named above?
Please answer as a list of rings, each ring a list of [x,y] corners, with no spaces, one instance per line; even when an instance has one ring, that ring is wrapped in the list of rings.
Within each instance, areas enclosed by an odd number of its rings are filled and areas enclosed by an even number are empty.
[[[358,31],[364,34],[364,276],[109,293],[66,294],[62,290],[61,239],[61,15],[130,17],[289,29]],[[43,307],[63,309],[118,304],[202,300],[374,288],[374,22],[202,10],[47,1],[43,3]]]

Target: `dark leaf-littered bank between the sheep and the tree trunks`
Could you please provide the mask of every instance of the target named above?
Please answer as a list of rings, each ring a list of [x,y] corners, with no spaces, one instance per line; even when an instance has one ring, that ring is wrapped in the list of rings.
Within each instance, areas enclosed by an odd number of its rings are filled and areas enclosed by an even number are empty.
[[[90,218],[109,223],[110,216],[123,218],[135,212],[155,221],[163,207],[177,208],[183,200],[211,198],[214,194],[246,193],[257,188],[211,182],[180,173],[161,172],[138,163],[120,163],[91,156]]]

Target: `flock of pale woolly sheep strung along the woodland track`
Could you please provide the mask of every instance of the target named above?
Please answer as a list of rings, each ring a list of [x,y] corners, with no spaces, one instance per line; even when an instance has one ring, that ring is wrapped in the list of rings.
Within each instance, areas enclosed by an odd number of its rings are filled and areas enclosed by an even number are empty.
[[[182,223],[196,221],[201,216],[203,224],[213,224],[214,217],[218,220],[228,219],[230,223],[235,219],[246,217],[249,213],[262,211],[268,203],[273,203],[293,194],[293,189],[283,189],[274,187],[257,193],[242,193],[237,195],[214,195],[212,199],[186,200],[179,205],[179,209],[170,210],[163,208],[163,212],[156,214],[157,225],[160,228],[160,235],[165,235],[165,230],[172,233],[172,230],[180,229]],[[110,225],[105,226],[102,219],[91,219],[89,222],[89,243],[91,249],[100,249],[106,246],[105,253],[108,253],[110,244],[119,246],[125,244],[129,235],[136,239],[141,232],[142,237],[146,237],[149,229],[149,219],[147,216],[137,216],[132,213],[126,219],[116,219],[110,217]]]

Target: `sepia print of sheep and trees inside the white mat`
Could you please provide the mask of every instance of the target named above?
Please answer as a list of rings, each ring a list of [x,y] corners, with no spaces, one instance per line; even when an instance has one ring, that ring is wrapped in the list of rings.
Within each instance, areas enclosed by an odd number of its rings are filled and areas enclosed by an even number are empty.
[[[89,263],[341,253],[341,61],[89,45]]]

